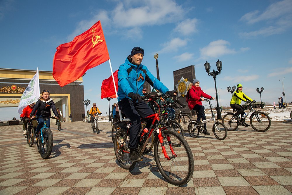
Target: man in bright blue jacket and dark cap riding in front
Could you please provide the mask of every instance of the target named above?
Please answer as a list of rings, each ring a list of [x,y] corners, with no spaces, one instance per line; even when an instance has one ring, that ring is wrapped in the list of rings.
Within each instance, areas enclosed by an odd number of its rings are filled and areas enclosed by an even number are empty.
[[[141,118],[154,114],[150,107],[142,101],[141,95],[143,84],[147,81],[152,87],[160,92],[173,96],[157,78],[155,78],[148,68],[141,64],[144,56],[144,49],[134,47],[131,54],[126,58],[125,63],[120,65],[118,71],[118,101],[119,109],[131,120],[130,127],[130,158],[131,161],[142,161],[136,148],[137,139],[141,128]],[[145,128],[149,128],[151,123],[147,123]]]

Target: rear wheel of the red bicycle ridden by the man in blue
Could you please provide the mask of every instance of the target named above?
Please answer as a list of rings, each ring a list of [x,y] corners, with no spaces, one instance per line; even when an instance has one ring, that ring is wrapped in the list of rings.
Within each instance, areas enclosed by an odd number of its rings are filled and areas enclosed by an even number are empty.
[[[120,130],[114,136],[114,153],[119,165],[126,170],[131,170],[136,165],[130,159],[129,140],[126,130]]]

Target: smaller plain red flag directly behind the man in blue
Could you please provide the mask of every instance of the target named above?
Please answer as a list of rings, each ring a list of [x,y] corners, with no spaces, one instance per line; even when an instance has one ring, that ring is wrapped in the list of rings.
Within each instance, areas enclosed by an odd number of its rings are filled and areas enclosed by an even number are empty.
[[[116,70],[116,72],[114,72],[114,82],[116,84],[117,87],[117,91],[118,91],[118,70]],[[110,97],[110,98],[115,98],[116,96],[116,92],[114,91],[114,82],[112,80],[112,75],[103,80],[102,84],[101,84],[101,99],[106,98],[106,97]]]

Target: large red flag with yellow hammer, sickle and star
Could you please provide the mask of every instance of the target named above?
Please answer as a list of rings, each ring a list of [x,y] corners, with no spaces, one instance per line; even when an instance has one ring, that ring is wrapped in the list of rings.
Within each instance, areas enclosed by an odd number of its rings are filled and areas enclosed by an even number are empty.
[[[69,43],[61,44],[53,60],[53,77],[61,87],[84,75],[86,70],[109,60],[100,21]]]

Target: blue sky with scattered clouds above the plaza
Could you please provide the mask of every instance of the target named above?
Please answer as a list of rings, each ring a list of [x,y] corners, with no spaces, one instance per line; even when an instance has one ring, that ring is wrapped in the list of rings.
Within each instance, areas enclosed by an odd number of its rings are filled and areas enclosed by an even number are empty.
[[[216,81],[223,106],[231,99],[226,88],[238,83],[257,101],[256,88],[264,87],[262,101],[277,103],[283,92],[279,80],[284,77],[286,100],[291,103],[291,10],[291,0],[1,0],[0,67],[52,71],[56,47],[100,20],[114,71],[133,47],[140,46],[145,50],[142,64],[154,75],[153,56],[159,54],[160,80],[166,87],[174,89],[174,70],[194,65],[201,88],[215,96],[214,80],[204,63],[208,61],[213,70],[220,59],[223,68]],[[85,99],[96,102],[102,113],[108,112],[108,101],[101,100],[100,86],[109,76],[105,62],[83,77]],[[6,111],[12,117],[13,112],[14,108]]]

